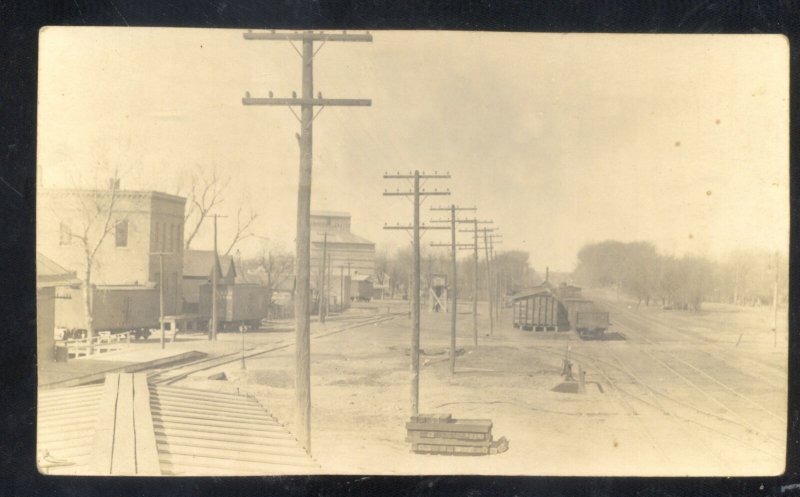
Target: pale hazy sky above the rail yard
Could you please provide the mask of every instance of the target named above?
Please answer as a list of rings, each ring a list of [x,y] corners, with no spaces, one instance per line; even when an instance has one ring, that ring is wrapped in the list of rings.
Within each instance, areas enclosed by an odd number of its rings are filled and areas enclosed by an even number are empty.
[[[314,122],[312,209],[350,211],[380,246],[409,237],[407,188],[384,171],[450,171],[502,250],[571,270],[578,249],[650,240],[718,256],[789,240],[789,49],[778,36],[373,32],[325,44],[315,92],[371,98]],[[187,191],[192,171],[231,177],[221,213],[293,247],[299,126],[252,96],[300,92],[288,42],[241,30],[48,28],[40,38],[38,156],[45,186]],[[435,183],[435,184],[434,184]],[[438,216],[437,216],[438,217]],[[231,218],[228,218],[231,221]],[[220,245],[229,230],[220,221]],[[210,247],[211,229],[193,246]],[[446,241],[445,232],[424,241]],[[467,241],[465,235],[464,241]],[[261,240],[243,244],[251,253]]]

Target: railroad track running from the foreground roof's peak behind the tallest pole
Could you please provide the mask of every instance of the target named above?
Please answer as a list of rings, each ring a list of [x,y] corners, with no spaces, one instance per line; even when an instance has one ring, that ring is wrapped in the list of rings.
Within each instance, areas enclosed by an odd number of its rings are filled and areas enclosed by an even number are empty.
[[[344,331],[352,330],[355,328],[360,328],[362,326],[369,326],[371,324],[378,324],[385,321],[390,321],[396,318],[399,315],[407,314],[405,312],[402,313],[389,313],[389,314],[381,314],[379,316],[367,316],[366,318],[363,316],[357,316],[353,318],[346,318],[342,319],[343,321],[342,326],[338,326],[332,330],[325,330],[320,333],[312,334],[312,339],[319,339],[324,338],[327,336],[335,335],[337,333],[342,333]],[[249,350],[245,350],[244,358],[249,359],[251,357],[257,357],[264,354],[268,354],[271,352],[276,352],[278,350],[284,350],[294,345],[294,340],[284,339],[277,342],[274,345],[267,346],[266,348],[257,347],[251,348]],[[229,364],[231,362],[239,361],[242,358],[242,352],[236,351],[231,352],[228,354],[223,354],[216,357],[209,357],[200,359],[197,361],[190,362],[188,364],[180,364],[172,367],[161,368],[155,371],[152,371],[147,375],[147,381],[150,384],[154,385],[172,385],[184,378],[198,373],[200,371],[206,371],[208,369],[212,369],[218,366],[222,366],[225,364]]]

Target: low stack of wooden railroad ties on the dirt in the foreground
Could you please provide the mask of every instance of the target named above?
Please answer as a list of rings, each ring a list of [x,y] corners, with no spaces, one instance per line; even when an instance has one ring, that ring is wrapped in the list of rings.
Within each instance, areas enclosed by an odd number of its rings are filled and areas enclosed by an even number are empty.
[[[411,450],[417,454],[488,455],[508,450],[508,440],[492,439],[489,419],[453,419],[450,414],[419,414],[406,423]]]

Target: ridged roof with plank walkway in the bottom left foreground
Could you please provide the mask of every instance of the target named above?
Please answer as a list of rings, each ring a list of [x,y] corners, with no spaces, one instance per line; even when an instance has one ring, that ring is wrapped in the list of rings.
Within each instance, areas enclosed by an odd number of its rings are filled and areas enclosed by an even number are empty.
[[[37,465],[69,475],[280,475],[319,465],[254,397],[148,384],[40,390]]]

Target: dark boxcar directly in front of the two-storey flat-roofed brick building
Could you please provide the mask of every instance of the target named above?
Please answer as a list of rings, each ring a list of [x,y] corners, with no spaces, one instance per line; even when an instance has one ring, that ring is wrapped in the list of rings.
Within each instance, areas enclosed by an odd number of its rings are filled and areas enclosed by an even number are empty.
[[[97,286],[92,295],[95,331],[135,331],[148,336],[159,327],[158,289],[143,286]],[[62,330],[86,328],[81,287],[56,290],[55,324]]]

